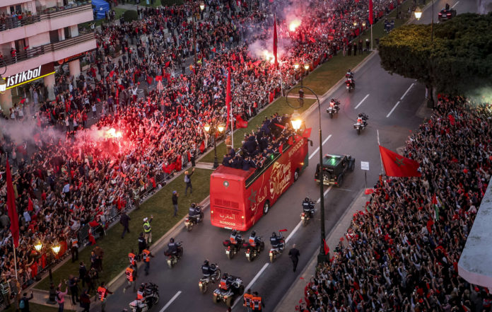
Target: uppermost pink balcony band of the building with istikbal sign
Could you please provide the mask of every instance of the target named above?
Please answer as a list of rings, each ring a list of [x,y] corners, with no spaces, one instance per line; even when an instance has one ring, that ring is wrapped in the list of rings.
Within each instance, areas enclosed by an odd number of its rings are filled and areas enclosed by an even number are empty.
[[[34,16],[24,16],[21,19],[8,17],[0,21],[0,42],[11,42],[92,20],[92,5],[88,1],[65,7],[45,8]]]

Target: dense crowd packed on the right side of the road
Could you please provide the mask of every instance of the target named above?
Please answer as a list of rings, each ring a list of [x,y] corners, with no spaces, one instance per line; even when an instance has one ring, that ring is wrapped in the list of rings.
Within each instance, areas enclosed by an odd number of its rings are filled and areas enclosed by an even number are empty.
[[[300,311],[491,311],[488,289],[457,270],[491,178],[491,117],[491,105],[440,98],[406,141],[421,178],[375,185]]]

